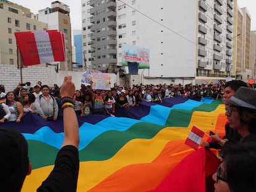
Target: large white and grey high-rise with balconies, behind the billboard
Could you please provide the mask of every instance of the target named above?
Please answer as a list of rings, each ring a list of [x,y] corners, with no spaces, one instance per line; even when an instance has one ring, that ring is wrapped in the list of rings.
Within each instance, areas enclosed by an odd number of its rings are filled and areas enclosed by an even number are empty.
[[[83,52],[88,67],[111,72],[126,43],[150,50],[149,77],[235,77],[233,17],[233,0],[82,0]]]

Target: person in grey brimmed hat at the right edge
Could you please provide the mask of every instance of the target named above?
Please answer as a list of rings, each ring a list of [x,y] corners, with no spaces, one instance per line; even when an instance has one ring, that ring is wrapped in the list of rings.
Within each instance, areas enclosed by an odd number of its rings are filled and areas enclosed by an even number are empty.
[[[256,142],[256,90],[241,87],[229,99],[223,99],[227,103],[226,116],[229,127],[237,130],[241,135],[240,142]],[[228,139],[214,137],[216,142],[224,145]]]

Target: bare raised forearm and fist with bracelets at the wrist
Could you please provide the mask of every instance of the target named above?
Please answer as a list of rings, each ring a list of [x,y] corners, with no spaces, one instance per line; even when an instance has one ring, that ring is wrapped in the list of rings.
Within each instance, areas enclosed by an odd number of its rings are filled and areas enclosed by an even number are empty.
[[[61,90],[59,91],[63,102],[64,141],[62,147],[66,145],[73,145],[78,148],[79,146],[79,125],[74,105],[72,103],[74,92],[75,85],[72,82],[72,77],[65,77]]]

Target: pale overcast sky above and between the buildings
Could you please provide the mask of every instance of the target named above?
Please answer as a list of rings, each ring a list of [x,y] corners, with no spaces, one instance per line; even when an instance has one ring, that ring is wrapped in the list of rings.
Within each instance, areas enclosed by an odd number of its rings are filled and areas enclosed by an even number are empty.
[[[150,0],[148,0],[150,1]],[[168,1],[168,0],[166,0]],[[11,2],[17,3],[23,7],[27,7],[34,14],[38,13],[38,10],[51,7],[53,0],[11,0]],[[61,0],[64,4],[70,7],[70,17],[72,30],[80,30],[82,28],[81,23],[81,1],[80,0]],[[256,30],[256,0],[237,0],[239,7],[247,7],[251,16],[251,30]],[[141,10],[143,12],[143,10]]]

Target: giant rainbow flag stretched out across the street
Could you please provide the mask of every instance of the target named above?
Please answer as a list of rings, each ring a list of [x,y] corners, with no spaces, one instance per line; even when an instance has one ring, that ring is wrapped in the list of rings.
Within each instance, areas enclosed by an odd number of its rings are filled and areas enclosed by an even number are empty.
[[[221,99],[179,97],[119,109],[115,117],[89,115],[78,120],[79,192],[205,191],[218,159],[212,151],[195,151],[184,142],[194,125],[205,133],[223,134],[226,123]],[[22,191],[36,191],[61,147],[62,119],[49,122],[28,113],[20,123],[0,126],[15,128],[27,139],[33,170]]]

